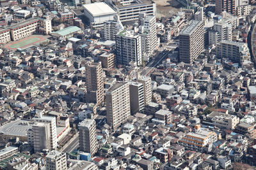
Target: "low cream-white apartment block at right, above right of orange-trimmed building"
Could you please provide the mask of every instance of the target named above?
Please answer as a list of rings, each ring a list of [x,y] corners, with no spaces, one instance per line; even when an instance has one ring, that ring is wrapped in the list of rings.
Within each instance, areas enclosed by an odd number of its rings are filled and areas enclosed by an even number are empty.
[[[236,125],[239,124],[239,120],[239,117],[236,117],[235,115],[223,114],[212,118],[212,124],[221,129],[233,130]]]

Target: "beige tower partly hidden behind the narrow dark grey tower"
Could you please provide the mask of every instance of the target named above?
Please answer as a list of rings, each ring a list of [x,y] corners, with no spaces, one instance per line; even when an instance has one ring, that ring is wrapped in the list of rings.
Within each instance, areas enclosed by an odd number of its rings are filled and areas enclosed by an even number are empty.
[[[145,76],[143,78],[139,78],[138,81],[143,84],[143,89],[144,89],[144,92],[143,92],[143,94],[144,94],[144,106],[146,106],[152,100],[151,78]]]

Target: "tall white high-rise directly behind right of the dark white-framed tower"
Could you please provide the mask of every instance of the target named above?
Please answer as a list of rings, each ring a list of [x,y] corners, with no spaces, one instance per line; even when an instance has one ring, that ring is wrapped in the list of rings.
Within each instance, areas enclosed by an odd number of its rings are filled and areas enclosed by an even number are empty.
[[[139,14],[139,23],[141,27],[141,33],[145,38],[145,47],[141,48],[142,53],[151,55],[158,46],[157,30],[156,30],[156,17],[154,15],[146,15],[146,13]]]

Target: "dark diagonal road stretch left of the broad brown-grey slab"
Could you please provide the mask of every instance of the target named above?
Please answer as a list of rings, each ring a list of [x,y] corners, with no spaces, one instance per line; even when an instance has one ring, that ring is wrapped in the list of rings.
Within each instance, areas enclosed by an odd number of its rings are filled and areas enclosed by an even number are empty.
[[[147,76],[148,73],[152,71],[152,69],[155,69],[157,64],[159,64],[159,62],[162,62],[166,55],[168,55],[168,52],[168,50],[163,50],[163,52],[157,53],[156,57],[151,62],[149,62],[147,66],[144,67],[144,69],[141,71],[141,76]]]

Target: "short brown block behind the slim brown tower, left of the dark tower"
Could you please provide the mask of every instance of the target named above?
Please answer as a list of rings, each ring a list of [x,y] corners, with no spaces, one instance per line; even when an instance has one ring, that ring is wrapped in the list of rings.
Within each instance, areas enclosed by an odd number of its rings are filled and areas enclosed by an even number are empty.
[[[116,55],[114,53],[102,53],[99,60],[103,68],[111,69],[116,66]]]

